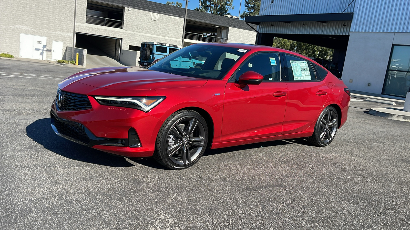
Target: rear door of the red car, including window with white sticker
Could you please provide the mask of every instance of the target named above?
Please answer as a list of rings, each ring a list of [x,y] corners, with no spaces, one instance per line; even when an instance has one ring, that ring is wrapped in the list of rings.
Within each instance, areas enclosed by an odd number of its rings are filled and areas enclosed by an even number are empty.
[[[323,110],[330,89],[316,74],[312,63],[291,54],[282,54],[288,89],[282,134],[305,131]]]

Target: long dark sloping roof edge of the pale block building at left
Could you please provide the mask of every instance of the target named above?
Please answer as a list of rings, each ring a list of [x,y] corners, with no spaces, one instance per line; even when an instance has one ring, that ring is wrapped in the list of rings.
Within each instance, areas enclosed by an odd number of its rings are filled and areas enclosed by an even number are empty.
[[[184,18],[185,8],[174,7],[158,2],[151,2],[148,0],[93,0],[94,2],[102,2],[109,5],[116,5],[121,7],[129,7],[132,9],[140,9],[144,11],[150,11],[157,14],[165,14],[169,16],[175,16]],[[212,25],[218,25],[223,27],[235,27],[238,29],[244,29],[254,31],[244,20],[238,20],[234,18],[227,18],[220,15],[214,15],[204,12],[188,9],[187,19],[194,20],[203,23],[209,23]],[[256,26],[253,25],[256,29]]]

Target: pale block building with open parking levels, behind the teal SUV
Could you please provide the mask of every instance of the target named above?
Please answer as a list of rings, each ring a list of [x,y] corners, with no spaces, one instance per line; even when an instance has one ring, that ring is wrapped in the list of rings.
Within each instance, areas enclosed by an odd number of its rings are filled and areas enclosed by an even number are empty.
[[[74,6],[74,0],[2,2],[0,52],[70,60]],[[184,16],[184,8],[147,0],[77,0],[75,52],[84,63],[92,54],[93,58],[106,56],[137,65],[142,42],[182,45],[182,33],[185,46],[201,42],[255,44],[255,30],[242,20],[188,10],[183,31]]]

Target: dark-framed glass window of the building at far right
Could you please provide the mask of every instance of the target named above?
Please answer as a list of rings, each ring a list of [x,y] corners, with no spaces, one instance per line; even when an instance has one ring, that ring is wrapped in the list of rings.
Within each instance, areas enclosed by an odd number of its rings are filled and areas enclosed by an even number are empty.
[[[393,45],[383,94],[405,97],[410,90],[410,46]]]

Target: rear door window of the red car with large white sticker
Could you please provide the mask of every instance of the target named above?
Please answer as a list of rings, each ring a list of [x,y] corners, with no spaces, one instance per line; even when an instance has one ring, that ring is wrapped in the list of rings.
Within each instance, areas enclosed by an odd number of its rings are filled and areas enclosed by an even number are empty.
[[[285,54],[288,81],[316,81],[310,61]]]

